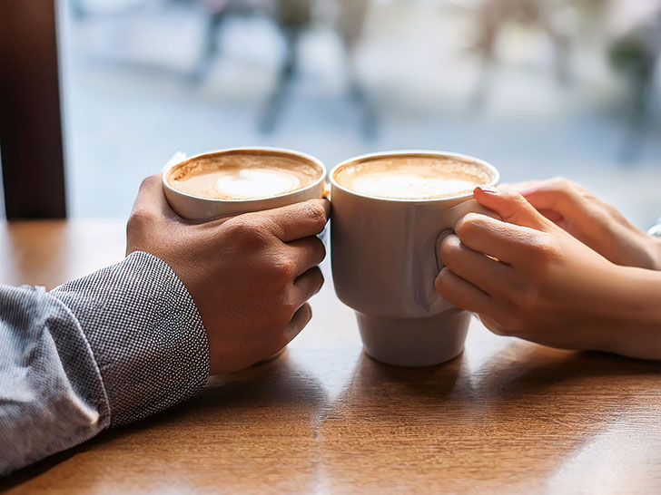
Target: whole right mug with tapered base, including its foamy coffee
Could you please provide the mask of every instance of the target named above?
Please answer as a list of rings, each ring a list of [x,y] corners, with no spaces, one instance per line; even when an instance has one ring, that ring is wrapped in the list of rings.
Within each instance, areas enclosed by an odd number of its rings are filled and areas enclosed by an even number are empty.
[[[486,161],[427,150],[363,155],[331,171],[333,282],[371,357],[428,366],[461,353],[470,314],[435,290],[439,239],[480,209],[472,190],[498,178]]]

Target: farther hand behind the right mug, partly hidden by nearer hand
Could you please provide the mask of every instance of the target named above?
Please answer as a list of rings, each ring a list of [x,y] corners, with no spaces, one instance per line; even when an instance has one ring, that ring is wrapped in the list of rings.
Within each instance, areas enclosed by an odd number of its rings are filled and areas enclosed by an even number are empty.
[[[661,241],[631,225],[615,207],[566,179],[504,186],[616,265],[661,270]]]

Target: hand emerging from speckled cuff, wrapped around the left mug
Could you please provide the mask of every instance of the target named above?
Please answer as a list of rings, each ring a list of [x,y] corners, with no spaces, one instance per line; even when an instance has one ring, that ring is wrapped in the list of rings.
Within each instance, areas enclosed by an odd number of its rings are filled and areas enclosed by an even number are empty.
[[[323,284],[317,265],[326,255],[314,236],[330,209],[314,199],[195,223],[173,212],[155,175],[135,200],[126,252],[173,268],[202,316],[210,373],[234,372],[279,352],[310,321],[307,301]]]

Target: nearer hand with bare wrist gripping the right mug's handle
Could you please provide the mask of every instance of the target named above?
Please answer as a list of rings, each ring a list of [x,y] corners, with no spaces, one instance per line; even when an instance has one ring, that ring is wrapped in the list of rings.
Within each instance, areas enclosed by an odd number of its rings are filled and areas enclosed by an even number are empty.
[[[661,272],[614,265],[518,193],[478,188],[475,198],[502,220],[459,219],[439,247],[441,296],[498,335],[661,357]]]

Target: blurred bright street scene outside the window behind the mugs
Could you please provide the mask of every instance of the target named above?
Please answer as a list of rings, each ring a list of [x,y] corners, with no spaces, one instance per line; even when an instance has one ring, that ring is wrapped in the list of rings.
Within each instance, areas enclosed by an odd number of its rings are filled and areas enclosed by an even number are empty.
[[[577,180],[661,215],[659,0],[62,0],[68,205],[126,217],[176,151],[376,150]]]

